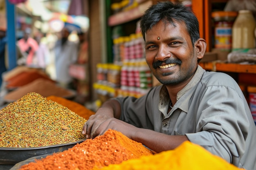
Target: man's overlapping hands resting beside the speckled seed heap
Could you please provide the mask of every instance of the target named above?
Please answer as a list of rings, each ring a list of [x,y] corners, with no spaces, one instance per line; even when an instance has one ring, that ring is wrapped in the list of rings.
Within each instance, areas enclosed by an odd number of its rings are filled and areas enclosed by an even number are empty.
[[[132,126],[124,121],[109,117],[106,115],[92,115],[83,126],[83,134],[86,134],[87,139],[94,139],[98,135],[103,135],[108,129],[113,129],[121,132],[130,139],[136,127]],[[132,130],[134,129],[134,130]]]

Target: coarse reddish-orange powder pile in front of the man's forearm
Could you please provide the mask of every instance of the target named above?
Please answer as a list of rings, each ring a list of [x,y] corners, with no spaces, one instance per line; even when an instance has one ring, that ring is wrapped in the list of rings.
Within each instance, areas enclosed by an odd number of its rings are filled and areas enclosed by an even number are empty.
[[[154,153],[121,132],[107,130],[104,135],[28,163],[20,170],[91,170]]]

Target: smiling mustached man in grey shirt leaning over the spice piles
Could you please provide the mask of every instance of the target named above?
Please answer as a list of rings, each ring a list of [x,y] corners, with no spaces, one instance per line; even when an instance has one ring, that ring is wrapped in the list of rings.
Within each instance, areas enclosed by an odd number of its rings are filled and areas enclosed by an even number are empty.
[[[94,138],[118,130],[156,152],[189,140],[235,166],[256,169],[256,127],[249,106],[233,78],[198,65],[207,44],[195,15],[182,4],[161,2],[141,18],[141,31],[146,62],[163,85],[138,99],[103,103],[82,133]]]

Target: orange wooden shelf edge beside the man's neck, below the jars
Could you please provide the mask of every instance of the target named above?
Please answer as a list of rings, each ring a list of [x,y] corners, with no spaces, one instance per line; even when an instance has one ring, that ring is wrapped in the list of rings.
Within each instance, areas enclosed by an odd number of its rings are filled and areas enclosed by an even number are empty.
[[[199,63],[206,70],[233,72],[233,73],[254,73],[256,74],[256,64],[237,64],[224,62],[202,62]]]

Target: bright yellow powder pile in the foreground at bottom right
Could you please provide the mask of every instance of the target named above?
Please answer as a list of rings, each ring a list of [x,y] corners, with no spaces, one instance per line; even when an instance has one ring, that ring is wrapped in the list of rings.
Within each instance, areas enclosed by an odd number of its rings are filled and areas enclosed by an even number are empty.
[[[93,170],[241,170],[199,145],[185,141],[175,150]]]

